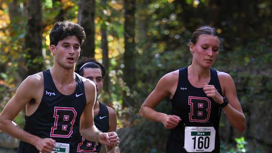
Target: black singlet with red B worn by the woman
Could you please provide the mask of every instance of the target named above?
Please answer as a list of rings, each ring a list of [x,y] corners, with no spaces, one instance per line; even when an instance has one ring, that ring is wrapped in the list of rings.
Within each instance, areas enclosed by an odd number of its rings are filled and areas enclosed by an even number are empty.
[[[210,68],[211,80],[209,85],[214,85],[222,95],[217,71]],[[189,127],[214,127],[215,149],[212,152],[220,152],[219,120],[221,108],[203,92],[203,88],[195,88],[188,81],[187,67],[179,69],[178,86],[171,100],[172,114],[179,116],[182,121],[174,129],[171,129],[167,141],[167,153],[187,152],[184,149],[184,129]],[[197,145],[197,144],[196,144]],[[207,144],[208,145],[208,144]],[[202,147],[203,145],[200,144]]]

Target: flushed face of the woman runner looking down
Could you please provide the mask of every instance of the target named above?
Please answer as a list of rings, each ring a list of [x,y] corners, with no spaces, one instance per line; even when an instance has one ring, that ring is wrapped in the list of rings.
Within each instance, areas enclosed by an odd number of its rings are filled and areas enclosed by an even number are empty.
[[[212,35],[201,35],[195,45],[190,44],[194,62],[203,67],[211,67],[215,63],[219,49],[220,40]]]

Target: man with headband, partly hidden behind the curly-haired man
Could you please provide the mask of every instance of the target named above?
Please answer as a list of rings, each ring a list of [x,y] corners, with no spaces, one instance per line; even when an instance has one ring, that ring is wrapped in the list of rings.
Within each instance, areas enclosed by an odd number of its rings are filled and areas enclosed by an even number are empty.
[[[94,104],[94,123],[95,126],[102,132],[115,132],[117,126],[117,119],[115,111],[106,106],[104,103],[98,101],[105,76],[105,67],[97,62],[94,58],[82,57],[76,65],[75,72],[79,73],[82,77],[93,81],[96,85],[97,99]],[[81,142],[78,144],[78,149],[82,152],[99,152],[101,149],[101,143],[89,141],[82,137]],[[109,146],[106,145],[106,151],[120,152],[118,145]]]

